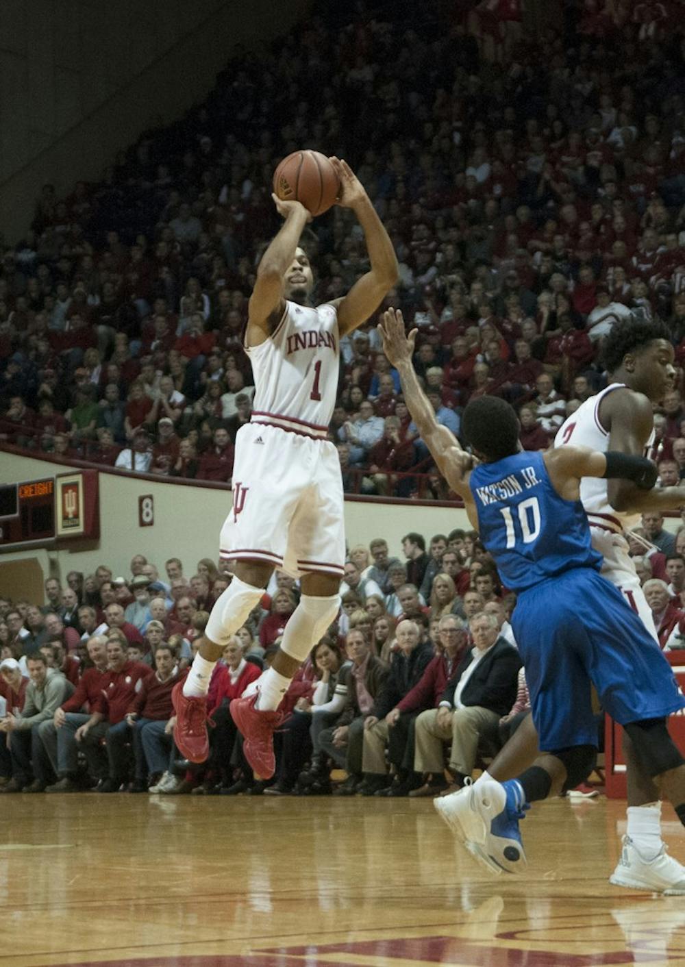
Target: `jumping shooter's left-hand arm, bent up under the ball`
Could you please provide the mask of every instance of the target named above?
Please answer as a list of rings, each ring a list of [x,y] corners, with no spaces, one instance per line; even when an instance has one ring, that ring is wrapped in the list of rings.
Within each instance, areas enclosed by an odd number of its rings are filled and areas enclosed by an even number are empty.
[[[295,257],[302,230],[312,220],[299,201],[282,201],[275,194],[272,198],[285,221],[257,267],[248,318],[248,343],[251,345],[269,337],[271,317],[283,314],[283,277]]]

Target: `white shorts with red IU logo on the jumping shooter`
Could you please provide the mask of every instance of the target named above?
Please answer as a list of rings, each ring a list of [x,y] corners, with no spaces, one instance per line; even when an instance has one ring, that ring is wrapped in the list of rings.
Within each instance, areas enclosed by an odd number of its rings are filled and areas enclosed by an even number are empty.
[[[279,426],[241,426],[221,556],[263,561],[293,577],[312,571],[342,577],[342,503],[341,467],[332,443]]]

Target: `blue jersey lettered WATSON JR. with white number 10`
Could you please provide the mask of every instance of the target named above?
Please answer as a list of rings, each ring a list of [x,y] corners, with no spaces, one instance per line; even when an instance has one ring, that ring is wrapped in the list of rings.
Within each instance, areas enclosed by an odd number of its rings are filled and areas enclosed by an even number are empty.
[[[580,500],[554,490],[543,454],[521,453],[472,471],[470,487],[481,541],[502,583],[521,592],[573,568],[599,571]]]

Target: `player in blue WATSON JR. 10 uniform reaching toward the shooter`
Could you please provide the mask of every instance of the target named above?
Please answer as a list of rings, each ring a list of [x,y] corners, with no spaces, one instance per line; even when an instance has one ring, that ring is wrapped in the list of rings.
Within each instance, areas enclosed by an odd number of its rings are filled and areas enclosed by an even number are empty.
[[[685,760],[666,718],[685,707],[668,661],[620,592],[599,574],[580,502],[582,477],[621,478],[648,489],[654,464],[637,455],[565,446],[521,453],[519,422],[496,397],[469,403],[462,431],[484,462],[474,467],[439,426],[411,366],[415,333],[387,312],[386,355],[422,438],[461,494],[508,587],[519,594],[514,630],[532,716],[545,751],[517,779],[479,780],[435,806],[471,853],[495,871],[525,862],[518,820],[529,803],[585,778],[596,759],[590,683],[630,734],[642,767],[685,824]]]

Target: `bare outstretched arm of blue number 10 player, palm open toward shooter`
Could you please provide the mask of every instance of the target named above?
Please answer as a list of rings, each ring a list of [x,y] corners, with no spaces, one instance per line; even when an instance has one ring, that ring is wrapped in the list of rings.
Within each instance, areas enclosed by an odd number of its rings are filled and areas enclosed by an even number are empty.
[[[383,352],[400,374],[404,402],[421,439],[431,451],[447,483],[462,497],[470,499],[465,475],[473,467],[473,457],[462,450],[459,440],[446,426],[438,424],[432,405],[421,389],[411,362],[416,330],[406,336],[402,312],[394,308],[383,313],[378,330],[383,338]]]

